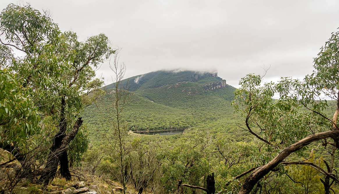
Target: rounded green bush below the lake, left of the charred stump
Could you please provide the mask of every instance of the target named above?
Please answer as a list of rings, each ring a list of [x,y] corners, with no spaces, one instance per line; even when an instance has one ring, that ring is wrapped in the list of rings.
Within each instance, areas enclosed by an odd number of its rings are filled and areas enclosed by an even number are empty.
[[[195,188],[211,193],[205,185],[205,176],[211,170],[208,158],[212,139],[209,134],[199,131],[193,137],[181,137],[176,143],[167,144],[170,146],[162,165],[164,173],[161,180],[166,182],[165,191],[190,193],[191,188]]]

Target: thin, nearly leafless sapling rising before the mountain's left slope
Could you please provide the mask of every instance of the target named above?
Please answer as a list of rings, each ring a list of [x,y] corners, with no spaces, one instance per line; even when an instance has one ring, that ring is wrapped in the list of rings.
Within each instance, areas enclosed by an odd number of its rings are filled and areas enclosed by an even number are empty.
[[[127,125],[123,117],[124,109],[129,102],[132,93],[128,91],[128,81],[123,85],[122,80],[126,72],[124,63],[119,64],[119,52],[115,52],[113,64],[110,68],[113,71],[112,81],[114,81],[113,90],[103,98],[98,99],[97,108],[105,120],[107,130],[104,136],[108,142],[109,155],[117,156],[116,164],[119,167],[119,181],[122,183],[123,192],[126,193],[126,183],[131,171],[128,166],[127,155],[131,151],[131,146],[127,140]],[[107,91],[106,91],[107,92]]]

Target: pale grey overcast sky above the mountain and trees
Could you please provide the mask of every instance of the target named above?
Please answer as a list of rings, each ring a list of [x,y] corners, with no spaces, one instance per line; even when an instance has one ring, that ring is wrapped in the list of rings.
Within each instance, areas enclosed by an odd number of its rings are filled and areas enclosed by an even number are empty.
[[[0,8],[17,0],[1,0]],[[161,69],[218,71],[238,87],[248,73],[303,78],[339,27],[338,0],[31,0],[80,40],[106,34],[126,78]],[[112,83],[108,64],[98,73]]]

